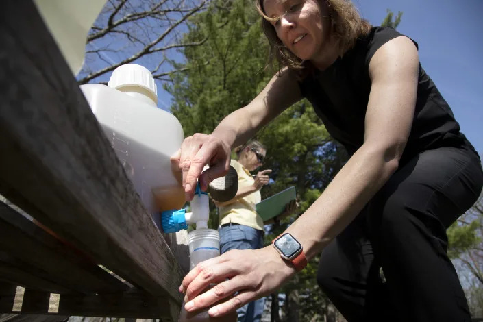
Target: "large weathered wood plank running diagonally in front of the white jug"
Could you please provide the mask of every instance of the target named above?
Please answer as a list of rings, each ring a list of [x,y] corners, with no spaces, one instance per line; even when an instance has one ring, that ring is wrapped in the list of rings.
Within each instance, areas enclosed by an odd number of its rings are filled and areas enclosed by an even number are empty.
[[[177,305],[183,273],[30,1],[0,12],[0,193]]]

